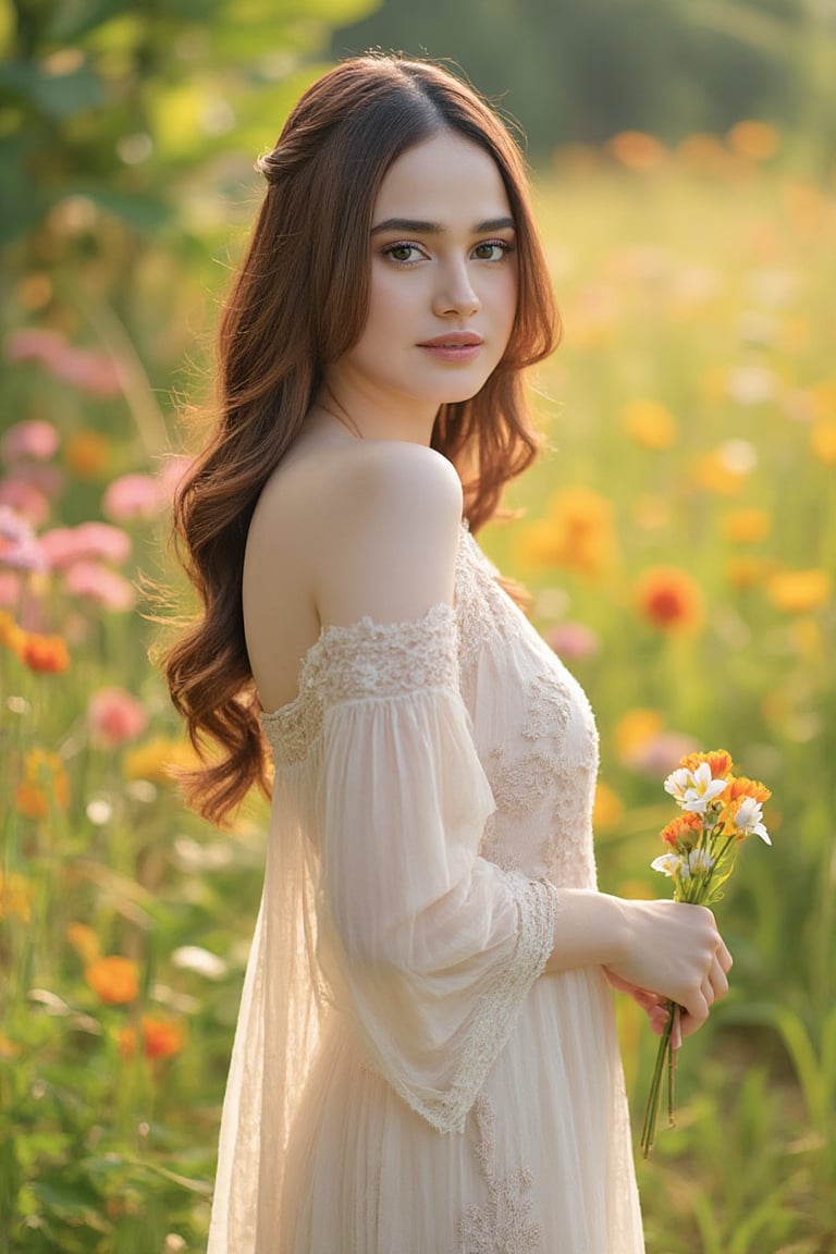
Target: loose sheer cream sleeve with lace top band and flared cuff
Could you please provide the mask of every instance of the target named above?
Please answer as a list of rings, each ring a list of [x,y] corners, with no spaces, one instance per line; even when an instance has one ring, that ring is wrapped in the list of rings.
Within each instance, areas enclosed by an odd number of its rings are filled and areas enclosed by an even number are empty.
[[[370,1065],[461,1130],[550,953],[556,890],[480,856],[494,801],[452,609],[322,646],[320,964]]]

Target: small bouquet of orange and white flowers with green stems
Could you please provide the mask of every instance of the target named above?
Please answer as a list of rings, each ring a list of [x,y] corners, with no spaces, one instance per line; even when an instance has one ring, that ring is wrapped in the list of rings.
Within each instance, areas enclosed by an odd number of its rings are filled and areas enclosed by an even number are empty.
[[[723,895],[723,884],[734,869],[737,846],[756,835],[771,844],[763,826],[763,803],[772,795],[763,784],[734,776],[726,750],[688,754],[664,781],[664,790],[682,814],[662,831],[668,851],[651,864],[673,880],[674,902],[711,905]],[[668,1076],[668,1120],[673,1126],[673,1073],[679,1047],[679,1007],[668,1004],[668,1018],[656,1056],[651,1091],[644,1110],[642,1150],[653,1147],[662,1096]]]

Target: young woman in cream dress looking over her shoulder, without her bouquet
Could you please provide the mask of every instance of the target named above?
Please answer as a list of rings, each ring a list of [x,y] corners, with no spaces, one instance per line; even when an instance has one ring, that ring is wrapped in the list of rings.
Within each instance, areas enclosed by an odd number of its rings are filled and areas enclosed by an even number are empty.
[[[635,1254],[608,977],[688,1032],[731,959],[708,910],[595,890],[589,706],[474,539],[556,339],[520,155],[375,56],[261,168],[168,658],[202,811],[274,770],[209,1251]]]

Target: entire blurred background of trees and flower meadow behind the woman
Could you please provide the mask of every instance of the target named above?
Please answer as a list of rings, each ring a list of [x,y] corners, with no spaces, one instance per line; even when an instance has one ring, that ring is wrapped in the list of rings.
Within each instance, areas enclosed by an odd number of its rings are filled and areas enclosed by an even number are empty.
[[[565,335],[483,543],[595,709],[602,885],[667,893],[683,752],[773,791],[718,907],[733,992],[639,1161],[648,1249],[827,1254],[833,0],[0,0],[0,1251],[204,1245],[264,811],[182,808],[148,581],[188,612],[167,508],[253,161],[374,46],[528,137]],[[619,1023],[638,1121],[656,1042]]]

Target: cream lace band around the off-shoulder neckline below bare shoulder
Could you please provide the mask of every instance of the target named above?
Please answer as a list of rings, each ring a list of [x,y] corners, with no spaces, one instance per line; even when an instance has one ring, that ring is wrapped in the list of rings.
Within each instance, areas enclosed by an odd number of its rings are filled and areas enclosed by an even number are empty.
[[[455,613],[447,604],[405,623],[366,617],[325,627],[302,661],[296,700],[262,714],[261,722],[276,760],[290,765],[317,739],[326,706],[427,688],[459,692]]]

